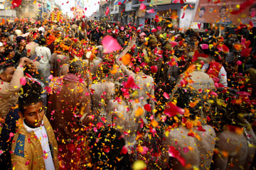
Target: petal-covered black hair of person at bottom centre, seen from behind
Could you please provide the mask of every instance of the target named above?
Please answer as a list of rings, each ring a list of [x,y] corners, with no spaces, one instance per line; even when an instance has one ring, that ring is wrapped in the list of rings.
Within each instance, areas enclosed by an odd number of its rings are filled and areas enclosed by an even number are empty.
[[[125,145],[121,132],[114,128],[98,130],[90,140],[92,162],[100,169],[130,170],[129,156],[122,153]]]

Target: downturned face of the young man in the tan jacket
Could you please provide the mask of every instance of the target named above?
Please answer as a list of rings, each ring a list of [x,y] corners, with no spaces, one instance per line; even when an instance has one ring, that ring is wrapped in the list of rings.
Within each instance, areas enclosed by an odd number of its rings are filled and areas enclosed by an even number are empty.
[[[23,115],[19,114],[21,118],[24,119],[26,125],[31,128],[38,128],[42,125],[43,115],[44,115],[44,107],[43,102],[38,102],[36,104],[32,104],[24,108]]]

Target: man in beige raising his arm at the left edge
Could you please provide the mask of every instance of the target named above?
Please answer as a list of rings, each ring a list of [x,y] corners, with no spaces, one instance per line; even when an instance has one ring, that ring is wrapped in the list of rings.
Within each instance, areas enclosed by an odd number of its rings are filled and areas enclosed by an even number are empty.
[[[18,67],[12,64],[4,64],[0,69],[0,115],[5,118],[10,108],[17,102],[18,91],[21,90],[21,78],[23,67],[28,62],[27,57],[21,58]]]

